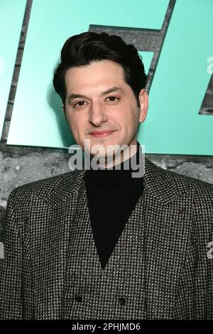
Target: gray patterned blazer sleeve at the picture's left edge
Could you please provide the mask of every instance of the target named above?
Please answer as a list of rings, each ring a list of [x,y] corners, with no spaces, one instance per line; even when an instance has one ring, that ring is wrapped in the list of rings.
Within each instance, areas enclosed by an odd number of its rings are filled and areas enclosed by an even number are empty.
[[[16,188],[9,195],[3,230],[4,257],[0,259],[0,319],[21,319],[21,236],[17,227]]]

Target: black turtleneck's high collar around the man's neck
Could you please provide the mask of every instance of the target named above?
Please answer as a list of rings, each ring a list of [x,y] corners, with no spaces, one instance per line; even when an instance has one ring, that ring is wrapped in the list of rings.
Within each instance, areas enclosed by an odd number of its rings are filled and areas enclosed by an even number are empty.
[[[118,169],[113,167],[86,170],[84,181],[89,193],[102,198],[125,198],[126,196],[134,197],[142,193],[143,177],[132,177],[132,173],[136,173],[138,169],[133,170],[130,161],[130,159],[136,159],[137,165],[139,164],[139,150],[141,150],[141,146],[137,141],[137,151],[129,158],[129,169],[124,169],[124,161],[122,161],[119,164]],[[90,156],[90,158],[92,158],[92,156]]]

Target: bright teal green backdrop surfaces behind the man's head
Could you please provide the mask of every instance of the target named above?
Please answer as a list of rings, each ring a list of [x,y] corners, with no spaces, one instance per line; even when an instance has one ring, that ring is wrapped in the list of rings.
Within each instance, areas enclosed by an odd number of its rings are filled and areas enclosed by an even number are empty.
[[[33,0],[7,144],[74,144],[52,86],[65,40],[89,25],[160,29],[168,0]],[[198,114],[211,74],[212,0],[177,0],[138,141],[146,153],[213,154],[213,117]],[[140,50],[146,72],[152,53]]]

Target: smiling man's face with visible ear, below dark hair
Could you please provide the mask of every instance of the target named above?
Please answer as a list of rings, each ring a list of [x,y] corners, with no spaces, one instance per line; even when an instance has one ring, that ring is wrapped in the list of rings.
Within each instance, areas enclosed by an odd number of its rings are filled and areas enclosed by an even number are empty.
[[[91,149],[101,144],[106,153],[107,145],[136,145],[138,122],[144,121],[148,110],[148,95],[141,90],[138,107],[121,65],[101,60],[70,68],[65,74],[65,85],[63,109],[74,139],[83,151],[85,139],[89,139]],[[92,134],[93,131],[111,132]]]

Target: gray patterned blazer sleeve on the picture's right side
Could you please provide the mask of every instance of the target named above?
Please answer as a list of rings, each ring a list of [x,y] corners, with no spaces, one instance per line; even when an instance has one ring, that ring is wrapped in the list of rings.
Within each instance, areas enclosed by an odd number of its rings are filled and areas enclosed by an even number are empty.
[[[213,202],[204,205],[204,196],[213,198],[213,191],[201,195],[200,204],[196,202],[193,208],[194,242],[186,252],[175,301],[174,318],[178,320],[213,319]]]

